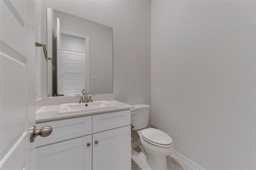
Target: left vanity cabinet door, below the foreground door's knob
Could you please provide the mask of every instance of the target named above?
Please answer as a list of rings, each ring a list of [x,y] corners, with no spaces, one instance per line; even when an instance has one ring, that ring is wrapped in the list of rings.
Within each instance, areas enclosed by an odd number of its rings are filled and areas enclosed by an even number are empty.
[[[92,135],[36,148],[37,170],[91,170]]]

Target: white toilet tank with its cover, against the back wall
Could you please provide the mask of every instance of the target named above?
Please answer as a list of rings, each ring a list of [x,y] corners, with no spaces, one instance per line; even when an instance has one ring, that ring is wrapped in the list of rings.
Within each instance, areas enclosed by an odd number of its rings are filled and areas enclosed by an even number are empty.
[[[133,130],[139,130],[148,126],[148,117],[150,105],[138,104],[132,105],[131,108],[131,125],[134,126]]]

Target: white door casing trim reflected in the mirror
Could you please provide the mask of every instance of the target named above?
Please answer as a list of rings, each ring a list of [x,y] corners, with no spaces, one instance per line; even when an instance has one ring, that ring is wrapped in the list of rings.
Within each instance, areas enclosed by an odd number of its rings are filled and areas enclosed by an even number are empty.
[[[85,68],[85,90],[89,92],[90,90],[90,64],[89,64],[89,36],[84,36],[84,35],[80,35],[80,34],[77,34],[77,33],[73,33],[73,32],[69,32],[69,31],[64,31],[64,30],[61,30],[61,33],[63,34],[66,34],[66,35],[72,35],[72,36],[75,36],[75,37],[80,37],[80,38],[84,38],[85,39],[85,52],[82,52],[82,51],[76,51],[76,50],[70,50],[70,49],[65,49],[65,48],[61,48],[62,50],[67,50],[67,51],[73,51],[73,52],[81,52],[81,53],[84,53],[85,54],[85,65],[86,65],[86,68]]]

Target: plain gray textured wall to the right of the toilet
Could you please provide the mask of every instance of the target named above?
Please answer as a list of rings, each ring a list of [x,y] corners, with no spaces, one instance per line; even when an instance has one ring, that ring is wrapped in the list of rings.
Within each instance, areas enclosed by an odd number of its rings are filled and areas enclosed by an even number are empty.
[[[256,169],[256,1],[152,1],[152,126],[205,169]]]

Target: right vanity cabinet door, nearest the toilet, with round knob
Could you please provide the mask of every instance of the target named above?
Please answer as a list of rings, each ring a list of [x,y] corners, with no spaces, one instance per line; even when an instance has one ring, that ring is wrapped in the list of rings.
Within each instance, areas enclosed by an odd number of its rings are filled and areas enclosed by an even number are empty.
[[[131,169],[131,126],[92,135],[93,170]]]

